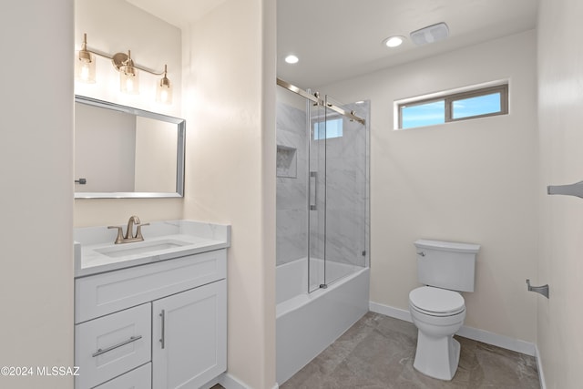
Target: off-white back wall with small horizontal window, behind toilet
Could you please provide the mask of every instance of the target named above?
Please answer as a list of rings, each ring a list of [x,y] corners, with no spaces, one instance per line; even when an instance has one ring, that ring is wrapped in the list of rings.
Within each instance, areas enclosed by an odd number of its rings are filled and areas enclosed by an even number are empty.
[[[319,88],[371,99],[371,300],[408,309],[413,241],[482,245],[465,325],[536,340],[536,36],[530,31]],[[393,130],[394,100],[509,79],[510,114]]]

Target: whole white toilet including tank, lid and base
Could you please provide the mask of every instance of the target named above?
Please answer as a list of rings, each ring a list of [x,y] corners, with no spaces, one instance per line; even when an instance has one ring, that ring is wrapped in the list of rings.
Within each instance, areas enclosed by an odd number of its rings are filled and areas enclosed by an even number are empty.
[[[460,344],[454,334],[465,319],[459,292],[474,292],[480,246],[449,241],[414,241],[417,276],[425,286],[409,293],[409,312],[418,329],[414,368],[440,380],[454,378]]]

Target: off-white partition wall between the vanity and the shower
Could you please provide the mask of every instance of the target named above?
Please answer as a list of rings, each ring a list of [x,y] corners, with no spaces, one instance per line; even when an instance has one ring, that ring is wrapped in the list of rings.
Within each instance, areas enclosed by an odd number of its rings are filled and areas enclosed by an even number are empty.
[[[275,13],[227,0],[183,34],[187,219],[232,225],[228,373],[275,383]]]

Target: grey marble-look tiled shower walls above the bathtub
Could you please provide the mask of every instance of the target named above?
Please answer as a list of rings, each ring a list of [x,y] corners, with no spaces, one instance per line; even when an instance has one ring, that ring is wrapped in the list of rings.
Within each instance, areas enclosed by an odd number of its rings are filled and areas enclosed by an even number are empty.
[[[369,102],[343,107],[354,110],[368,123]],[[313,109],[310,128],[314,120],[323,118],[322,108],[318,112]],[[307,257],[309,217],[312,258],[325,256],[327,261],[365,266],[369,233],[368,130],[343,118],[342,137],[312,140],[309,167],[307,120],[305,111],[278,102],[277,265]],[[308,210],[308,168],[318,174],[317,210],[312,211]]]

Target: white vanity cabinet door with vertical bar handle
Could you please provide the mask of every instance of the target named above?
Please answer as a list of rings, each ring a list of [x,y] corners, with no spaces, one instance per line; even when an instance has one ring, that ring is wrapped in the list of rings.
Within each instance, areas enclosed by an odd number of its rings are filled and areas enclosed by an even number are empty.
[[[225,280],[152,304],[154,388],[199,388],[227,369]]]

